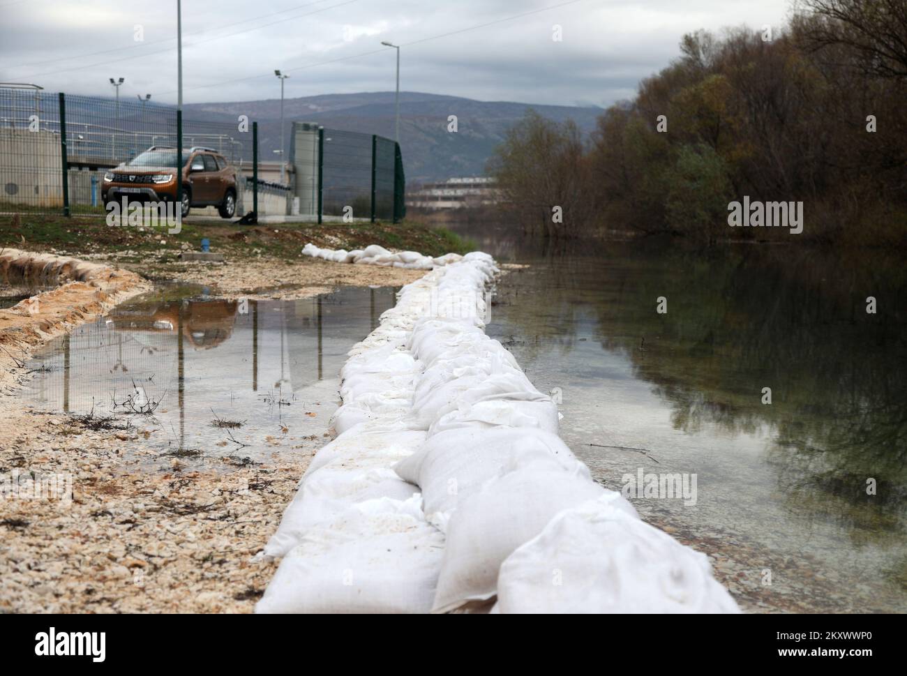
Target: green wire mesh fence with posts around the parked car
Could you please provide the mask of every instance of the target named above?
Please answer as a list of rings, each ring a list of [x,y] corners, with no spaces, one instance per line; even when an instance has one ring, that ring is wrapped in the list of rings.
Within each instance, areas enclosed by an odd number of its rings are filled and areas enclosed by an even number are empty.
[[[103,214],[105,175],[126,179],[142,152],[176,148],[179,123],[170,105],[0,85],[0,212]],[[184,114],[181,126],[182,163],[192,148],[218,153],[236,173],[236,214],[250,213],[250,221],[396,222],[405,215],[402,158],[389,139],[294,122],[284,178],[279,162],[260,162],[257,124],[243,116],[214,122]],[[218,211],[193,204],[192,214]]]

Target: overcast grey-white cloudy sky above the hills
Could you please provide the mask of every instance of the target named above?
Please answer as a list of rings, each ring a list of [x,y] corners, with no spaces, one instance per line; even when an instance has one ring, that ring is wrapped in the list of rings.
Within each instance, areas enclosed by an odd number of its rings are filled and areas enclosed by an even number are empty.
[[[678,39],[785,22],[790,0],[183,0],[186,103],[392,91],[608,105]],[[0,0],[0,81],[176,101],[176,0]],[[561,41],[552,39],[561,26]]]

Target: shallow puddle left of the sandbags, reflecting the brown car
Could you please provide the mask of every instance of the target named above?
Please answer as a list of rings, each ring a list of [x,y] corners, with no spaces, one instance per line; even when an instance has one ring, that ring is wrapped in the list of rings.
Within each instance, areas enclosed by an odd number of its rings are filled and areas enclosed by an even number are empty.
[[[258,461],[312,446],[336,409],[346,352],[393,307],[396,290],[228,301],[191,287],[163,289],[37,354],[27,403],[118,414],[150,430],[147,443],[186,462]]]

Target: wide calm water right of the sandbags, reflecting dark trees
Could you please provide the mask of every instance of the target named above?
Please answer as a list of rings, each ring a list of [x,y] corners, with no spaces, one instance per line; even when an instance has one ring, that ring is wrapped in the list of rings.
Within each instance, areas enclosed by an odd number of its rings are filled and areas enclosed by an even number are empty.
[[[901,260],[463,234],[531,266],[499,281],[488,332],[562,399],[564,440],[615,490],[695,476],[695,505],[631,500],[747,609],[907,611]]]

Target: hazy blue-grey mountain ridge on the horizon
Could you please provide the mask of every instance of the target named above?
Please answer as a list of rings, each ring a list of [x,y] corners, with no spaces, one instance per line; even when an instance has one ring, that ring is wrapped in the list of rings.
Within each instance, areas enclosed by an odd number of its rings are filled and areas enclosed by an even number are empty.
[[[400,146],[406,181],[439,181],[451,176],[483,174],[485,162],[513,122],[532,108],[552,120],[571,119],[590,132],[600,108],[529,105],[473,101],[432,93],[400,93]],[[258,120],[262,156],[273,157],[280,145],[280,100],[236,103],[194,103],[184,106],[187,119],[235,121],[238,115]],[[457,116],[456,133],[447,131],[447,118]],[[394,138],[394,93],[322,94],[284,101],[289,138],[291,122],[317,122],[329,129],[376,133]]]

